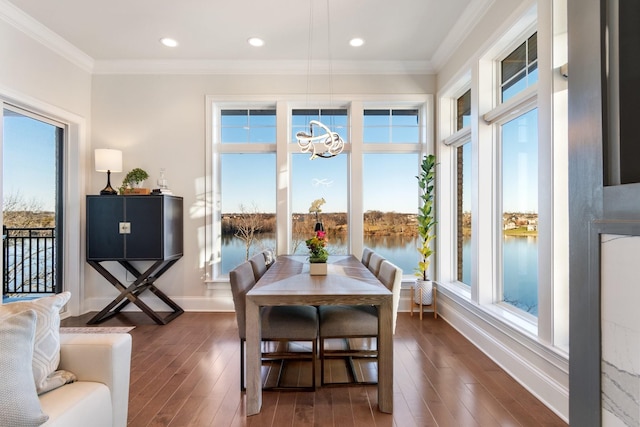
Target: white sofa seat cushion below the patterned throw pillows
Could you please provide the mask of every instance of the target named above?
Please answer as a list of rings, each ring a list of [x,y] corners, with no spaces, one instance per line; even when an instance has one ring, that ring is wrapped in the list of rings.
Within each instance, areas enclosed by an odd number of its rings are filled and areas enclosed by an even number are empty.
[[[43,427],[112,427],[109,388],[98,382],[78,381],[40,395],[49,415]]]

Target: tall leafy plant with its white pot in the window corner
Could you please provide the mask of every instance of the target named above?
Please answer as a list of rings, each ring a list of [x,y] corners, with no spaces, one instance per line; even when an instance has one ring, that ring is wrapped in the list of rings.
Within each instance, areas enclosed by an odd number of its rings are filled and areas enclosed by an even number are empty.
[[[428,270],[431,263],[430,258],[433,255],[431,241],[436,237],[436,218],[433,205],[436,156],[433,154],[424,156],[420,167],[420,174],[416,176],[418,187],[420,187],[421,202],[418,210],[418,235],[420,237],[418,252],[420,253],[420,261],[415,270],[418,280],[416,280],[415,284],[414,302],[416,304],[431,305],[433,303],[433,282],[429,280]]]

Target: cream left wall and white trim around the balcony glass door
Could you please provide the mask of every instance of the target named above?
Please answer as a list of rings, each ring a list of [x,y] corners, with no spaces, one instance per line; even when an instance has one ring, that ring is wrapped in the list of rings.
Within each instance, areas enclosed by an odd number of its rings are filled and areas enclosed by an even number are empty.
[[[72,292],[69,312],[78,313],[83,303],[82,199],[91,113],[91,75],[9,25],[6,12],[3,4],[0,10],[0,104],[9,102],[67,124],[63,286]],[[0,132],[0,138],[1,135]]]

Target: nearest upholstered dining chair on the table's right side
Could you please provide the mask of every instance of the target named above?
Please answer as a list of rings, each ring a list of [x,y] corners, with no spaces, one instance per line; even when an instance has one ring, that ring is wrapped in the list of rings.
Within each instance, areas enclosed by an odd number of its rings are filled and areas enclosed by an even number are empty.
[[[380,264],[378,280],[393,294],[392,297],[392,332],[395,334],[398,305],[400,303],[400,289],[402,287],[402,269],[387,260]],[[378,309],[370,305],[325,305],[318,308],[320,316],[320,380],[321,385],[330,384],[325,381],[325,361],[327,359],[343,358],[346,360],[353,379],[357,384],[375,384],[377,381],[358,381],[353,364],[353,358],[377,357],[378,337]],[[344,339],[345,349],[327,350],[325,340]],[[376,338],[376,348],[351,348],[349,340],[352,338]],[[345,383],[331,383],[345,384]],[[346,383],[351,384],[351,383]]]

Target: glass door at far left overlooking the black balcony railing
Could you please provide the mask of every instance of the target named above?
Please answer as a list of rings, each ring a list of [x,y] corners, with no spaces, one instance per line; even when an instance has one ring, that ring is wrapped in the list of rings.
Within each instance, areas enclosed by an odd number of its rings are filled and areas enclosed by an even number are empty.
[[[3,293],[62,292],[65,125],[3,110]]]

